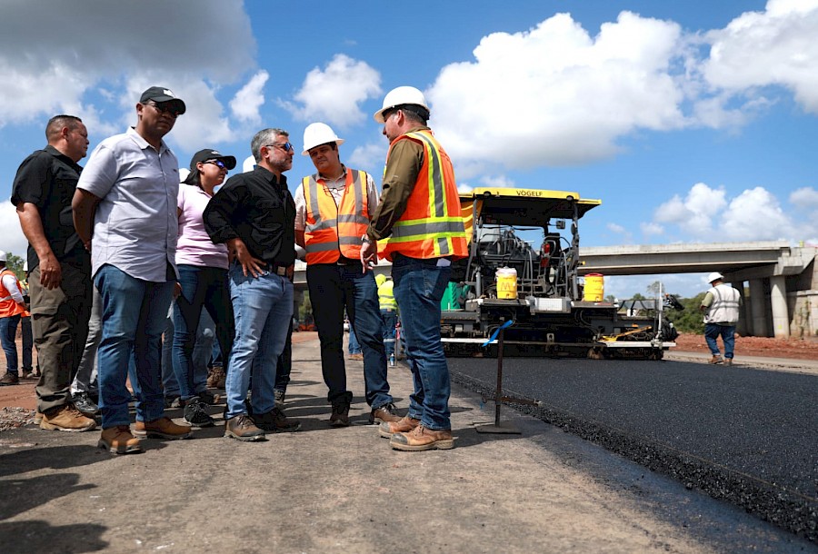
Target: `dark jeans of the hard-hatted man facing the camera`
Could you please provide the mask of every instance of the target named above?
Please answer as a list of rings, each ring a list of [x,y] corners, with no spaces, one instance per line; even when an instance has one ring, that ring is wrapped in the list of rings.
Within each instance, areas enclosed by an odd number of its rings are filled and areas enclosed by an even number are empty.
[[[349,315],[350,334],[364,353],[366,403],[373,409],[392,402],[386,381],[384,323],[378,306],[378,286],[372,272],[362,272],[360,263],[337,265],[315,263],[307,266],[307,285],[313,304],[315,326],[321,341],[321,371],[332,404],[350,403],[344,366],[344,308]],[[438,331],[439,332],[439,331]]]

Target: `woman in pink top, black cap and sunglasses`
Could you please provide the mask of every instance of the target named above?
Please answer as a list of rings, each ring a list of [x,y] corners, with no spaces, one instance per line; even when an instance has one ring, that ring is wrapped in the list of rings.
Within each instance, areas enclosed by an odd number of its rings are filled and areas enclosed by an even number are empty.
[[[174,372],[185,406],[185,420],[197,427],[214,424],[205,410],[205,403],[213,401],[207,391],[206,370],[197,371],[193,355],[202,309],[205,308],[215,322],[224,360],[230,356],[234,339],[233,304],[227,285],[227,247],[210,240],[202,213],[214,195],[214,188],[224,182],[228,170],[234,167],[233,156],[224,156],[210,148],[200,150],[190,161],[190,173],[179,187],[176,245],[179,295],[174,302]]]

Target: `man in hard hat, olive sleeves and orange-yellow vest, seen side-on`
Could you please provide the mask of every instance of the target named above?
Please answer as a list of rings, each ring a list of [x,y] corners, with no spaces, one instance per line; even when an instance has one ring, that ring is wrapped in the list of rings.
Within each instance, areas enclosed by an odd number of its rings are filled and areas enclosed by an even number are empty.
[[[440,340],[440,301],[451,264],[468,255],[452,161],[426,126],[424,94],[399,86],[374,114],[384,124],[389,153],[383,195],[362,240],[361,264],[375,255],[392,261],[394,297],[401,307],[414,393],[409,413],[382,423],[381,436],[396,450],[451,449],[451,382]],[[376,241],[385,239],[383,249]]]

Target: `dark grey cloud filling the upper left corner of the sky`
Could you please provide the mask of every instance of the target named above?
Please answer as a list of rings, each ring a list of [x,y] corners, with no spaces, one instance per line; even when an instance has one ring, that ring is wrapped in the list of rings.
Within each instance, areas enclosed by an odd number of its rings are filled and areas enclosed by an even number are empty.
[[[152,84],[174,89],[185,99],[188,113],[198,113],[200,106],[182,96],[183,89],[232,83],[254,65],[247,15],[242,9],[224,9],[220,0],[55,2],[47,6],[48,17],[43,9],[19,0],[4,3],[0,127],[60,112],[78,114],[89,124],[120,117],[133,124],[133,106]],[[214,21],[217,48],[214,35],[202,32]],[[145,86],[129,89],[135,83]],[[95,108],[82,109],[97,101]],[[90,125],[89,130],[100,132]]]

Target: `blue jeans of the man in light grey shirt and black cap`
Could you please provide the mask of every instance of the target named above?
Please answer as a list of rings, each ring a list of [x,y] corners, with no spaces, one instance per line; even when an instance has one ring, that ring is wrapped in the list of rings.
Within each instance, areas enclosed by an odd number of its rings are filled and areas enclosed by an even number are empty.
[[[95,275],[102,299],[102,341],[98,353],[99,408],[103,429],[128,425],[125,387],[128,362],[135,358],[139,394],[136,420],[154,421],[165,415],[160,359],[162,332],[174,282],[150,282],[105,264]]]

